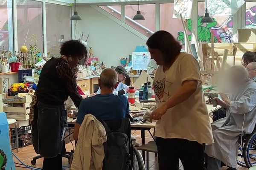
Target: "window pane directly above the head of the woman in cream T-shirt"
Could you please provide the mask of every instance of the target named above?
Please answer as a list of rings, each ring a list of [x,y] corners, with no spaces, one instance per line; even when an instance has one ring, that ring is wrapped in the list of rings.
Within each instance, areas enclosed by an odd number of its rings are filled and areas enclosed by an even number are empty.
[[[184,44],[184,29],[182,26],[182,22],[180,19],[172,17],[173,8],[174,3],[160,4],[160,30],[168,31],[173,35],[173,37],[175,37],[177,40]]]

